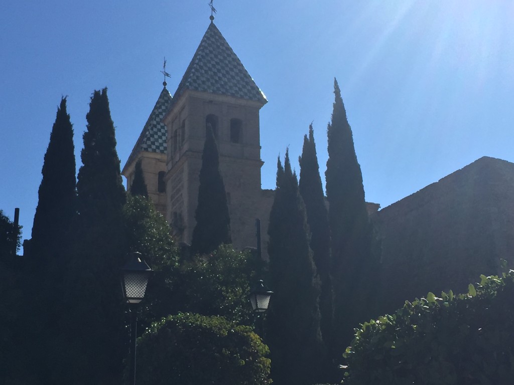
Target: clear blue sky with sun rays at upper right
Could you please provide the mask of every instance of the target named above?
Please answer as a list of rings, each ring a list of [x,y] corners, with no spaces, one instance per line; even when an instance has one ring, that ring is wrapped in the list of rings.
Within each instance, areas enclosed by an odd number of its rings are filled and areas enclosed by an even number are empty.
[[[123,166],[162,89],[173,93],[209,25],[208,0],[0,5],[0,209],[30,238],[61,95],[77,169],[91,93],[108,87]],[[333,80],[366,200],[385,207],[482,156],[514,161],[511,1],[214,0],[215,24],[268,98],[263,188],[313,122],[320,170]],[[298,164],[295,162],[297,171]]]

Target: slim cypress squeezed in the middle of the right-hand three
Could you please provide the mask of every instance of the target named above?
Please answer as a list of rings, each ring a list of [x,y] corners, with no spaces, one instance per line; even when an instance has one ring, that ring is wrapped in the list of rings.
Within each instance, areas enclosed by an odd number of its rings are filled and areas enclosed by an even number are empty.
[[[328,214],[319,173],[313,125],[309,126],[309,136],[303,139],[300,163],[300,195],[305,202],[307,224],[310,229],[310,248],[321,280],[320,313],[321,333],[325,341],[331,340],[333,321],[333,292],[330,257],[330,229]]]

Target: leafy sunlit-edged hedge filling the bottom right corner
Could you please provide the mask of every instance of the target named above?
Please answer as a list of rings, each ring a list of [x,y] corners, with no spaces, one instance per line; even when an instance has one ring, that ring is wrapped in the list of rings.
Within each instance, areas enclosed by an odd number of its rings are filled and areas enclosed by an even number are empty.
[[[514,271],[502,278],[482,275],[466,294],[428,293],[359,325],[344,353],[344,383],[511,383],[513,296]]]

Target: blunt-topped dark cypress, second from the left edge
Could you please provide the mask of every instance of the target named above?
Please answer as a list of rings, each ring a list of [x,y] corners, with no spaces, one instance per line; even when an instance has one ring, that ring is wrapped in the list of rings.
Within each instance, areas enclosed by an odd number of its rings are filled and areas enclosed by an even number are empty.
[[[86,120],[77,181],[75,260],[68,282],[68,362],[62,365],[62,375],[69,377],[59,380],[103,384],[121,381],[126,337],[119,283],[127,253],[126,196],[107,89],[93,93]]]

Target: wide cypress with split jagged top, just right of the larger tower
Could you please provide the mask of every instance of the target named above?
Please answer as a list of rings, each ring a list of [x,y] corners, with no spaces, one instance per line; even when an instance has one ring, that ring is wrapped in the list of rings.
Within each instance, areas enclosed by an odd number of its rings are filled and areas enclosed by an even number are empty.
[[[269,286],[266,342],[274,383],[316,383],[320,377],[319,279],[309,248],[305,205],[286,152],[278,161],[268,227]]]

